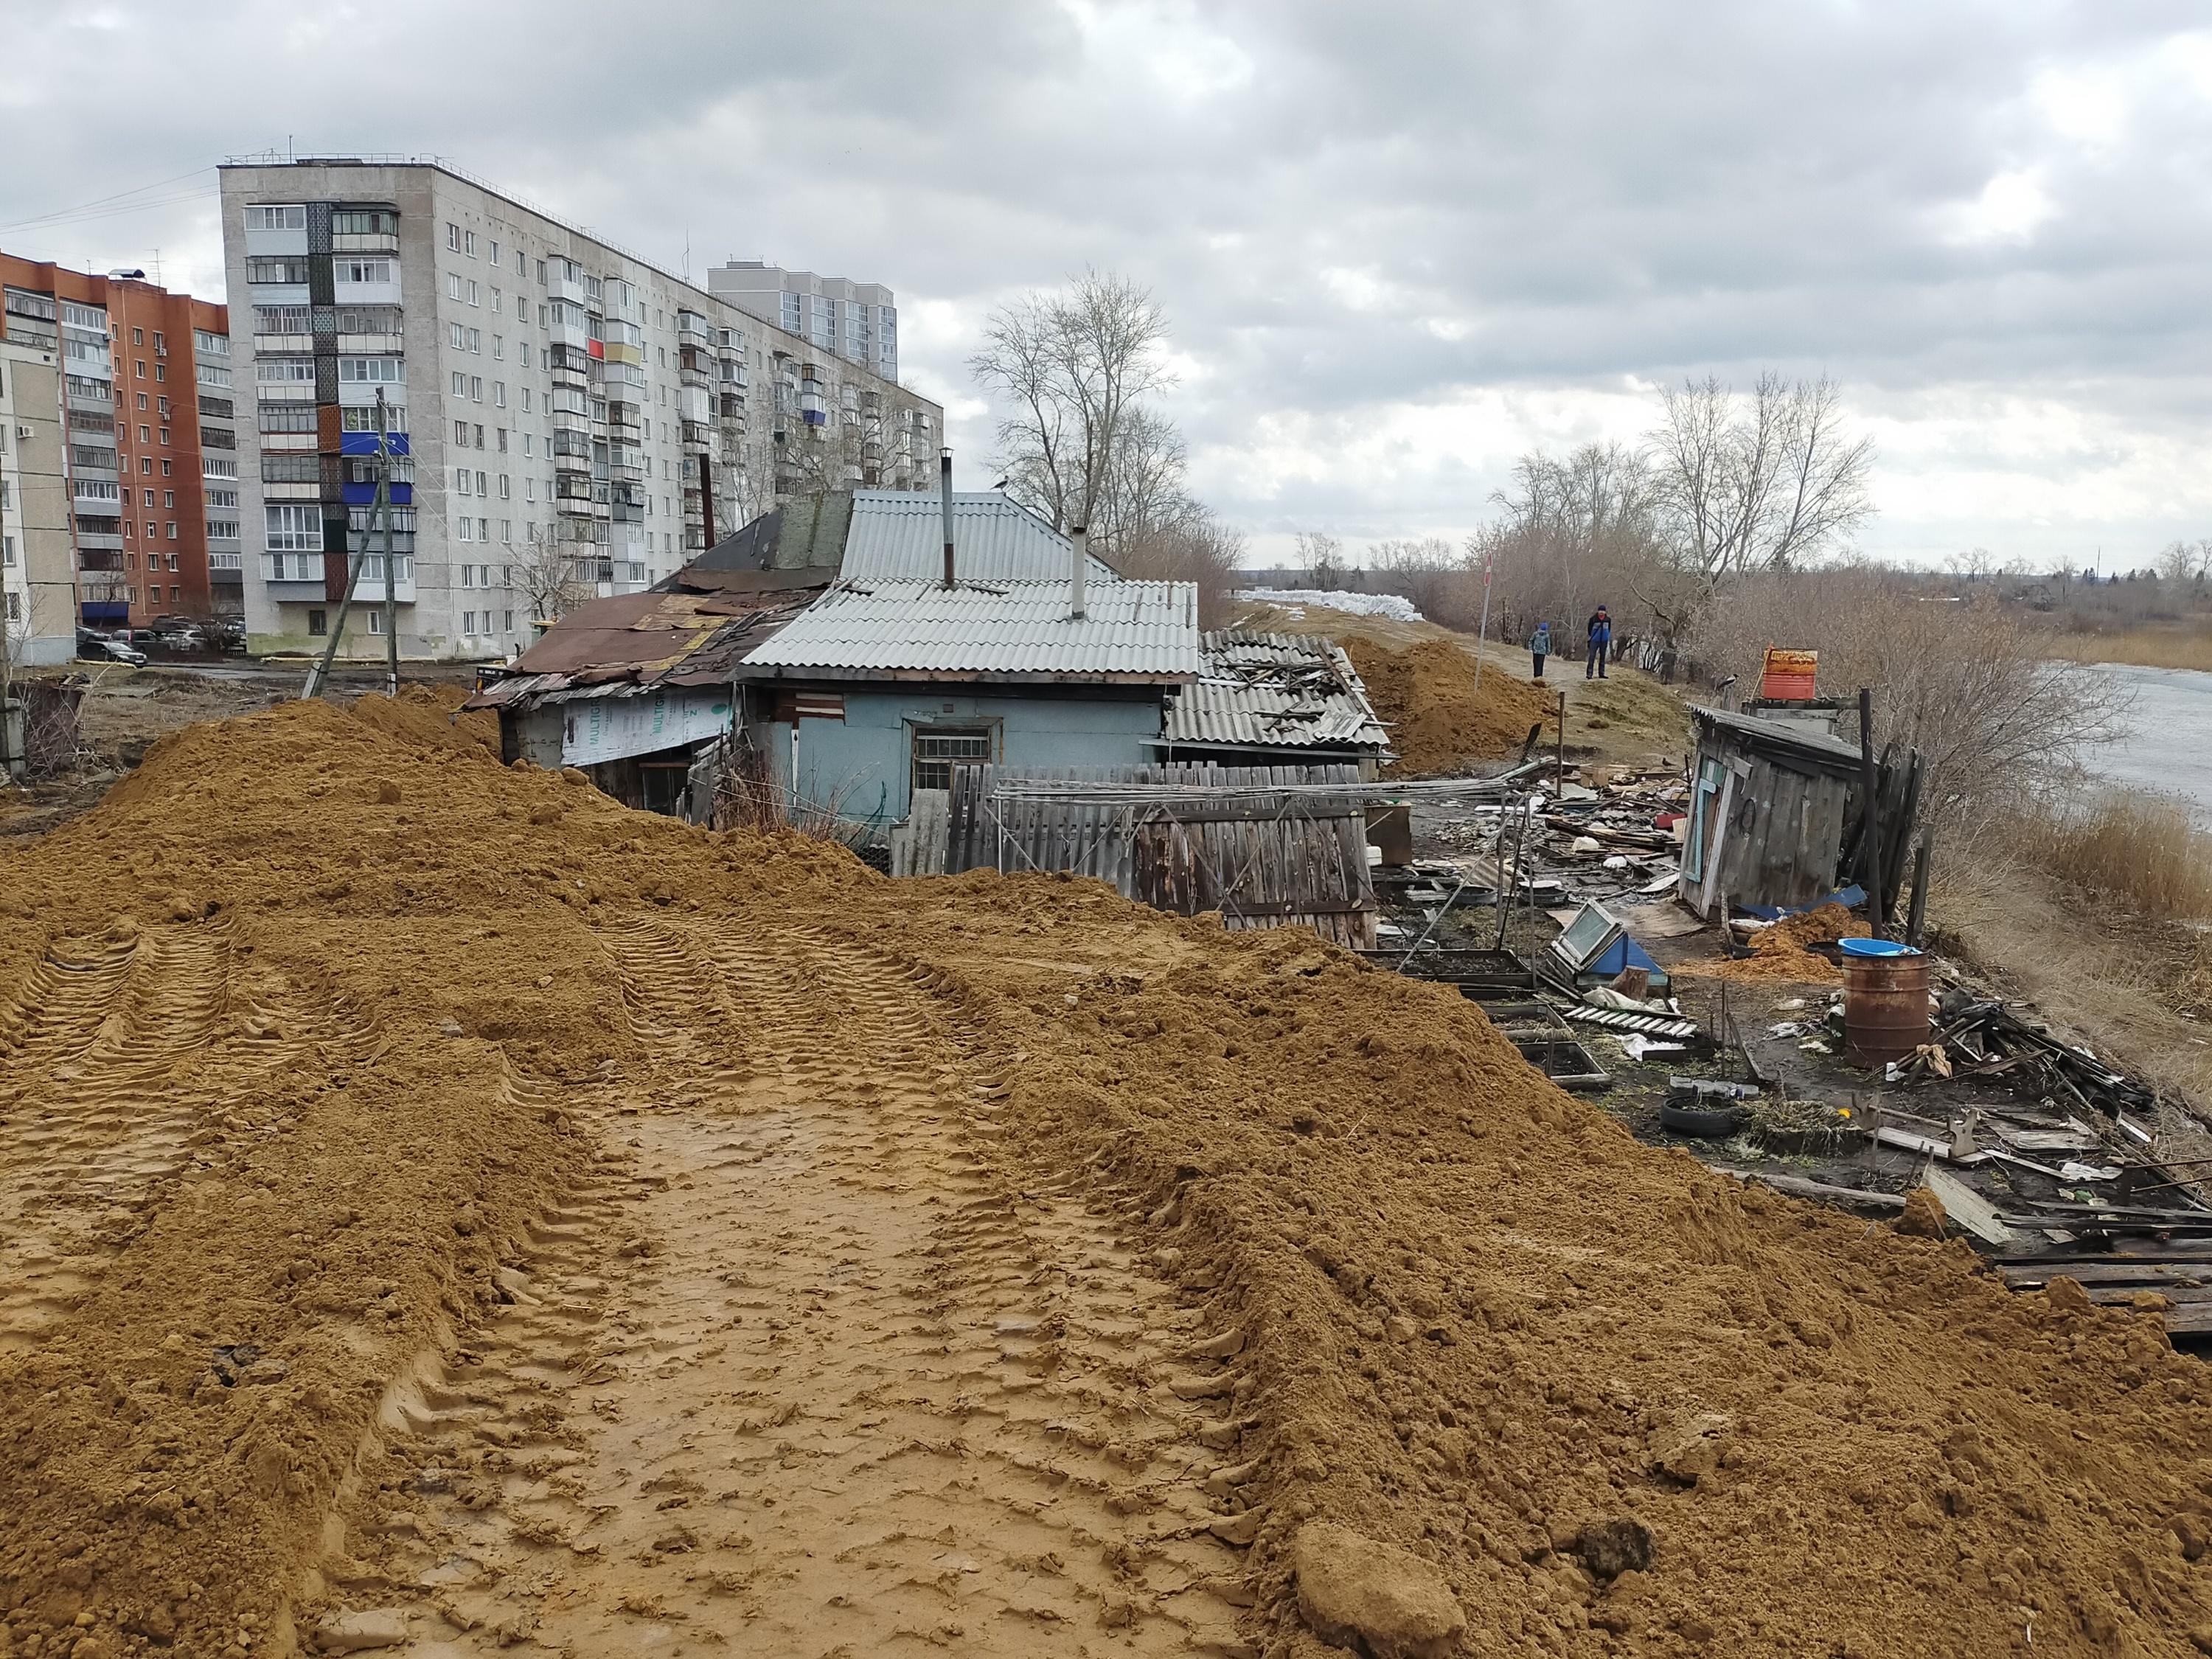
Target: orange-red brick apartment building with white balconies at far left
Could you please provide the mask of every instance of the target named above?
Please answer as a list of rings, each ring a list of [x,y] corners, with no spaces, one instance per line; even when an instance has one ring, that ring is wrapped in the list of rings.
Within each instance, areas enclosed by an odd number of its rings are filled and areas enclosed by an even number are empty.
[[[77,619],[243,611],[230,314],[0,252],[11,347],[55,354]]]

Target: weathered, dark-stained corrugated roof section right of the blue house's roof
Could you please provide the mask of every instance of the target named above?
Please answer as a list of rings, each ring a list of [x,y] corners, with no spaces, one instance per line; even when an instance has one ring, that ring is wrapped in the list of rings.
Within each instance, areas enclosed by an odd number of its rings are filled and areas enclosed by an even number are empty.
[[[1332,639],[1223,628],[1203,635],[1201,659],[1168,708],[1168,743],[1389,752],[1367,686]]]

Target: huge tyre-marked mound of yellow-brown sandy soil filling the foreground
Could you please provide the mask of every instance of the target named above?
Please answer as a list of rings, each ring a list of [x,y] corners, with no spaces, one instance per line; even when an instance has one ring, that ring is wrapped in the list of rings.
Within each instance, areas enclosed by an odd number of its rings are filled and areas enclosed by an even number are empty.
[[[2212,1644],[2154,1316],[1639,1148],[1310,933],[383,714],[0,854],[0,1652]]]

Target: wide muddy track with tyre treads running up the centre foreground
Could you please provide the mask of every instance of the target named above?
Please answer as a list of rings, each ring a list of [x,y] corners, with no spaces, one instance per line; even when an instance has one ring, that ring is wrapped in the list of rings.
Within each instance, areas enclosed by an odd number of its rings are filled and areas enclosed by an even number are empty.
[[[511,1082],[613,1150],[389,1402],[336,1588],[422,1652],[1245,1652],[1208,1332],[1011,1181],[951,1009],[821,933],[602,942],[650,1064]]]

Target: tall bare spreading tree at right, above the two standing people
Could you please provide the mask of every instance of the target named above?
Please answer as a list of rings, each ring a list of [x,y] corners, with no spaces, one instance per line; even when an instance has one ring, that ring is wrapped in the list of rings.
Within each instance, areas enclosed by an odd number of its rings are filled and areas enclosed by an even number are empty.
[[[1657,522],[1705,591],[1790,571],[1845,542],[1871,513],[1874,442],[1843,425],[1829,378],[1761,374],[1750,394],[1717,376],[1666,394],[1650,434]]]

